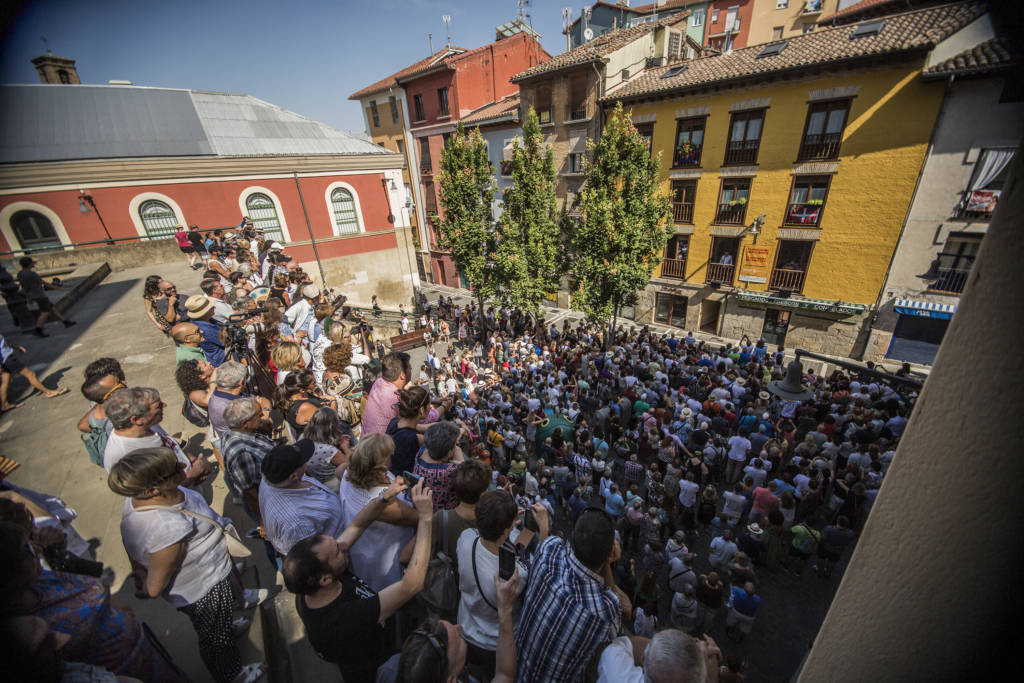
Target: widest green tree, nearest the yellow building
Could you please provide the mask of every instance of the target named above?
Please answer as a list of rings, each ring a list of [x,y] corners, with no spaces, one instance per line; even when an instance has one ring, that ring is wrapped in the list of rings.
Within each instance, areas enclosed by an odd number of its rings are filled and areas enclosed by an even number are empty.
[[[607,343],[618,306],[662,262],[672,212],[658,189],[659,159],[651,158],[621,102],[601,139],[587,146],[587,179],[574,205],[581,216],[563,223],[564,265],[579,283],[572,306],[593,321],[611,317]]]

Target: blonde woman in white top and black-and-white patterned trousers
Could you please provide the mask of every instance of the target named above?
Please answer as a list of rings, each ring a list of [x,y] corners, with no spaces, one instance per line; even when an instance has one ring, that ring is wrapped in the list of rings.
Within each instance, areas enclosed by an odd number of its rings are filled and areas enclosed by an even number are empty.
[[[229,523],[202,494],[181,486],[184,471],[170,449],[140,449],[114,464],[111,490],[125,497],[121,537],[131,560],[136,597],[163,596],[191,620],[203,664],[218,682],[252,683],[265,671],[245,667],[234,643],[231,609],[238,585],[223,526]],[[246,591],[247,607],[259,604]],[[238,628],[248,626],[240,623]]]

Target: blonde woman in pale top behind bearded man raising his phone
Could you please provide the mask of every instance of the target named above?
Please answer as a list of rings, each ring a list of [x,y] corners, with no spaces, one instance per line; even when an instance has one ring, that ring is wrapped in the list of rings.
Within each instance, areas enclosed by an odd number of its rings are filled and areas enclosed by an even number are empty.
[[[359,511],[394,481],[395,476],[387,471],[393,452],[394,441],[387,434],[370,434],[352,451],[338,489],[344,525],[351,524]],[[378,592],[400,580],[398,556],[413,539],[416,524],[415,508],[403,497],[392,499],[362,532],[359,543],[349,549],[352,573]]]

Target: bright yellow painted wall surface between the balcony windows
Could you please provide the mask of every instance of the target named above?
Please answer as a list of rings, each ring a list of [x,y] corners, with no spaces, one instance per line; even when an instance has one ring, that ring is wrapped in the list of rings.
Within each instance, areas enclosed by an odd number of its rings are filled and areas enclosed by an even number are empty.
[[[942,100],[943,85],[918,78],[919,68],[851,72],[841,77],[808,79],[633,105],[633,116],[656,115],[654,153],[662,153],[662,179],[669,191],[676,110],[711,106],[705,129],[702,174],[693,208],[687,282],[702,284],[711,252],[711,225],[718,204],[730,103],[770,97],[765,115],[758,171],[751,183],[745,223],[767,213],[758,244],[776,255],[777,230],[788,203],[794,165],[807,118],[809,91],[859,85],[853,98],[802,296],[872,304],[885,281],[889,259],[910,204],[928,140]],[[740,245],[753,244],[746,236]],[[741,252],[741,249],[740,249]],[[741,261],[737,258],[736,274]],[[659,275],[660,272],[655,274]],[[735,286],[743,288],[738,282]],[[767,285],[750,284],[751,290]]]

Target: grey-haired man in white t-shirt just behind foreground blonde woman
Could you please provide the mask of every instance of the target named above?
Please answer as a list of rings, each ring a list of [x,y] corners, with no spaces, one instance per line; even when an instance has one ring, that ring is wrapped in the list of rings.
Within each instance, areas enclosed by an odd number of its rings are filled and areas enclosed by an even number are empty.
[[[160,399],[160,392],[147,387],[125,387],[106,398],[103,408],[114,431],[106,437],[103,469],[110,472],[115,463],[139,449],[165,447],[173,451],[184,466],[186,486],[198,485],[206,478],[210,471],[206,459],[188,458],[180,444],[160,426],[166,405]]]

